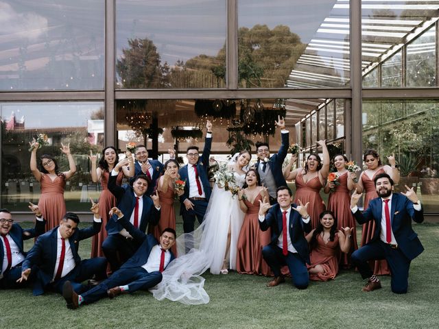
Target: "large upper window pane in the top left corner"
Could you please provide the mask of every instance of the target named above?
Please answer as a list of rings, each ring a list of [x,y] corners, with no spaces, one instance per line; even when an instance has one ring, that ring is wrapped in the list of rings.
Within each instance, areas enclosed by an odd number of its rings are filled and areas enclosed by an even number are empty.
[[[103,89],[104,5],[3,1],[0,90]]]

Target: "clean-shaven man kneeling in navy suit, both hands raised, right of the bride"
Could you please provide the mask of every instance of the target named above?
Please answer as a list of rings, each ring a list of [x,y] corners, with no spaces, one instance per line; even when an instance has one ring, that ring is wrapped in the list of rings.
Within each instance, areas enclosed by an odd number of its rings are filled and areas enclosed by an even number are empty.
[[[278,204],[270,206],[266,199],[259,201],[259,227],[263,231],[272,229],[271,242],[262,249],[263,259],[274,273],[274,280],[267,286],[275,287],[285,282],[281,267],[287,265],[294,286],[306,289],[309,283],[309,250],[305,233],[311,230],[307,212],[309,203],[305,206],[300,201],[299,206],[292,204],[292,191],[287,186],[279,186],[276,193]]]

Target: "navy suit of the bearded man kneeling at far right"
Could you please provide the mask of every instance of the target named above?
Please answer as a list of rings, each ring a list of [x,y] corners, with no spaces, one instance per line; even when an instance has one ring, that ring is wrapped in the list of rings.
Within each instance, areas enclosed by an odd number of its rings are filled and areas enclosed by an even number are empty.
[[[392,194],[392,208],[390,222],[392,232],[398,247],[392,248],[380,239],[383,201],[381,197],[372,199],[368,208],[361,213],[354,213],[360,224],[375,221],[375,232],[372,240],[352,254],[352,262],[358,267],[363,278],[370,278],[373,272],[367,261],[371,259],[385,259],[388,261],[392,275],[392,291],[406,293],[411,261],[423,252],[424,247],[418,239],[418,234],[412,229],[412,219],[416,223],[424,221],[423,210],[417,211],[413,203],[404,195]]]

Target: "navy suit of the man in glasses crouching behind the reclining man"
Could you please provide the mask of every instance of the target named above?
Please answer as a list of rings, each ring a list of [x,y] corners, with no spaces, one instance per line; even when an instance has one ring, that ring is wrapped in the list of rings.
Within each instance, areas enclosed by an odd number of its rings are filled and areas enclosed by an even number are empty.
[[[124,186],[118,186],[116,184],[117,176],[110,175],[108,179],[108,189],[117,198],[117,207],[121,210],[123,215],[131,218],[134,207],[136,206],[136,197],[132,186],[125,184]],[[160,210],[157,210],[152,202],[151,197],[146,193],[142,196],[143,208],[140,218],[139,228],[141,231],[146,232],[148,223],[150,225],[157,225],[160,219]],[[105,257],[110,263],[112,271],[116,271],[120,267],[120,263],[125,263],[130,258],[140,244],[134,240],[128,240],[124,236],[121,236],[119,232],[123,229],[120,223],[117,222],[117,216],[114,215],[108,220],[106,225],[108,236],[102,243],[102,251]],[[121,262],[118,260],[118,254]]]

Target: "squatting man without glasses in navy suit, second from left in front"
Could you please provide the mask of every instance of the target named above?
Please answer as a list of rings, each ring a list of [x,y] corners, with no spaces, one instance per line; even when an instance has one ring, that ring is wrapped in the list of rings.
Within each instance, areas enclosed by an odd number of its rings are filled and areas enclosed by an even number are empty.
[[[81,260],[78,254],[79,242],[99,233],[102,220],[99,207],[92,201],[93,226],[78,229],[80,219],[73,212],[67,212],[60,225],[40,235],[27,254],[21,269],[19,282],[27,280],[31,271],[36,270],[34,295],[41,295],[45,289],[62,292],[67,280],[73,282],[76,291],[87,287],[81,282],[95,276],[96,280],[106,278],[107,262],[104,257]]]

